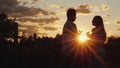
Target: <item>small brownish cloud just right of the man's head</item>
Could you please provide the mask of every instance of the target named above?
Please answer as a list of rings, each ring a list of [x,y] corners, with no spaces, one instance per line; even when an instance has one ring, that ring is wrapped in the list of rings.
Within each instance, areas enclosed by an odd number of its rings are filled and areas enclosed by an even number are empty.
[[[77,9],[77,13],[82,13],[82,14],[90,14],[90,5],[89,4],[84,4],[80,5]]]

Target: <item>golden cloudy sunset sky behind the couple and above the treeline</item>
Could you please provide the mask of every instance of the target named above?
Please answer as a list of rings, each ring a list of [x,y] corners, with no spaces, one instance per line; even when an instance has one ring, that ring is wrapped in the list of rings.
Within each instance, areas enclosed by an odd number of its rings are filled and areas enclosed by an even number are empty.
[[[69,8],[77,10],[78,31],[90,32],[92,19],[100,15],[108,36],[120,36],[119,0],[0,0],[0,13],[16,18],[19,34],[55,37],[62,34]]]

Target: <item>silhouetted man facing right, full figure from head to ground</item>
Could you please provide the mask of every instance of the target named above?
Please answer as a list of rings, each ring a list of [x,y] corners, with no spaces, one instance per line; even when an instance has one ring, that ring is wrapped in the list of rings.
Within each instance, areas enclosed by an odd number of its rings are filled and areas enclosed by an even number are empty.
[[[63,27],[62,43],[63,43],[63,57],[64,63],[63,68],[73,68],[72,60],[74,51],[72,51],[75,45],[77,36],[77,27],[73,23],[76,19],[76,10],[70,8],[67,10],[67,21]]]

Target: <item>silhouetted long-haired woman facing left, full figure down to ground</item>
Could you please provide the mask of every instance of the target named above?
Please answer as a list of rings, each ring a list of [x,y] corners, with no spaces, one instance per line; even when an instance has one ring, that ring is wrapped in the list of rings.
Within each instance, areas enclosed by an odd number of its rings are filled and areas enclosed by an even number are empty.
[[[90,48],[90,68],[104,68],[106,32],[102,17],[95,16],[92,20],[92,25],[95,26],[95,28],[92,29],[90,36],[92,40]]]

